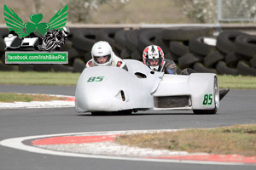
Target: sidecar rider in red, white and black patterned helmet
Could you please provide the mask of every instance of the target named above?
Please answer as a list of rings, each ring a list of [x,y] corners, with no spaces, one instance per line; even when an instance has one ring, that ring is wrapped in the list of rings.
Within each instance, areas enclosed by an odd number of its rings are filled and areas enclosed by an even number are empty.
[[[177,67],[171,59],[165,59],[163,50],[156,45],[149,45],[143,50],[143,62],[153,71],[161,71],[166,74],[177,75]],[[189,75],[195,73],[193,69],[184,69],[181,74]],[[219,100],[223,99],[230,88],[219,89]]]

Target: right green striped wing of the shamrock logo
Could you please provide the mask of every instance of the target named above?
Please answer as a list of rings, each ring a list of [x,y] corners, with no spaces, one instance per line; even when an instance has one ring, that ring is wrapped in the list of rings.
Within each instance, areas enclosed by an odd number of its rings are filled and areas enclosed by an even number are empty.
[[[60,10],[49,20],[49,30],[62,30],[67,22],[67,5]]]

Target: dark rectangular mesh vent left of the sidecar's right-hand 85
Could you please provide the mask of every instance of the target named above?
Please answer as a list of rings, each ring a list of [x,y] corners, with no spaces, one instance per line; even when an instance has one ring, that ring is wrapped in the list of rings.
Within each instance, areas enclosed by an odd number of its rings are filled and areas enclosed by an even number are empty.
[[[189,107],[191,105],[192,103],[189,95],[154,97],[154,107],[156,108]]]

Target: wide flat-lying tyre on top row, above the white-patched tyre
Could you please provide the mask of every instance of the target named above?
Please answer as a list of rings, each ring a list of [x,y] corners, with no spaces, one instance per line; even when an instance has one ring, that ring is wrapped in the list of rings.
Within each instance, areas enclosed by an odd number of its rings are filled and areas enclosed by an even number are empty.
[[[162,39],[171,41],[189,41],[192,37],[212,36],[210,27],[170,27],[162,30]]]

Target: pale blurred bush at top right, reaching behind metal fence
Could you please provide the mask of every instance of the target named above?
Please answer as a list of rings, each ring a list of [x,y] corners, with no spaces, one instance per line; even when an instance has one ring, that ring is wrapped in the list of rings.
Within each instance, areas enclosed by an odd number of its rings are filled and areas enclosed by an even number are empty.
[[[256,0],[175,0],[175,3],[195,23],[248,21],[256,16]]]

